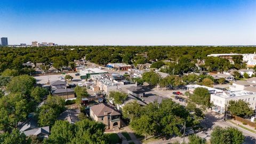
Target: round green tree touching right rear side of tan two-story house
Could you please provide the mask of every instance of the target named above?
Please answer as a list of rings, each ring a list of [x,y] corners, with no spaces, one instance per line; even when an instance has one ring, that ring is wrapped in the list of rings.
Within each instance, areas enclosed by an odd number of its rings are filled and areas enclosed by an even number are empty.
[[[137,101],[132,101],[124,105],[122,114],[124,118],[129,118],[132,121],[132,119],[140,116],[141,110],[142,108],[139,103]]]

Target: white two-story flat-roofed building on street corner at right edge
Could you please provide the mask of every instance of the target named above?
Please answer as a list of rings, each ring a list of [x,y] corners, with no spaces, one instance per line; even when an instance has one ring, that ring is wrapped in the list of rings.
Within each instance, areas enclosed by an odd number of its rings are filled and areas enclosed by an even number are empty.
[[[243,100],[250,104],[252,109],[255,109],[256,93],[250,91],[223,91],[222,93],[211,94],[211,101],[213,102],[213,110],[219,113],[225,113],[225,109],[228,106],[230,100]]]

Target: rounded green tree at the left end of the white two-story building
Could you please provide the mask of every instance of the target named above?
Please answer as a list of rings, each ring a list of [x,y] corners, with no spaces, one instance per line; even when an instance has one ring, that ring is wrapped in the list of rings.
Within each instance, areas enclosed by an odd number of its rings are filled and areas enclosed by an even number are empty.
[[[203,87],[197,87],[189,98],[191,101],[202,105],[203,108],[211,107],[211,95],[209,91]]]

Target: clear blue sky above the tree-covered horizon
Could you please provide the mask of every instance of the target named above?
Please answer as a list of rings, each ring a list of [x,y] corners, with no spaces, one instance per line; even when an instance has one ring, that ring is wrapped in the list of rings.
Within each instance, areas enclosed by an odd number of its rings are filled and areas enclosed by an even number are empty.
[[[256,45],[254,0],[9,0],[9,44]]]

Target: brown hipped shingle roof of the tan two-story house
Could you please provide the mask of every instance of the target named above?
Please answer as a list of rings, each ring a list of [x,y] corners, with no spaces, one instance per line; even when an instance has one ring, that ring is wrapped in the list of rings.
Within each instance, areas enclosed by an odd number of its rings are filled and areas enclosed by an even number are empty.
[[[104,116],[104,111],[107,111],[108,115],[110,115],[110,116],[121,115],[113,107],[110,107],[109,105],[107,105],[105,103],[100,103],[99,105],[94,105],[94,106],[90,107],[90,109],[93,111],[93,113],[97,117]]]

